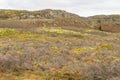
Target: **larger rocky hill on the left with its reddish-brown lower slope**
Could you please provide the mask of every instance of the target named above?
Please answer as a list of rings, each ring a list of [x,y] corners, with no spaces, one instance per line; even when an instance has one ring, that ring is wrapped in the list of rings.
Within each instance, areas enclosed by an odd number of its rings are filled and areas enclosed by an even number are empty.
[[[77,29],[86,24],[76,14],[63,10],[45,9],[40,11],[0,10],[0,27],[34,28],[55,26]]]

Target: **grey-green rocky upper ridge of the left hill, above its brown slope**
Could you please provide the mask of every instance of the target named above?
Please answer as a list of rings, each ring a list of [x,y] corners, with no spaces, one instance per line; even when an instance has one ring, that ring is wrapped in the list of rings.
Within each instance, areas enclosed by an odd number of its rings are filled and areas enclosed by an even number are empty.
[[[64,10],[44,9],[39,11],[27,10],[0,10],[0,19],[53,19],[79,17],[76,14],[68,13]]]

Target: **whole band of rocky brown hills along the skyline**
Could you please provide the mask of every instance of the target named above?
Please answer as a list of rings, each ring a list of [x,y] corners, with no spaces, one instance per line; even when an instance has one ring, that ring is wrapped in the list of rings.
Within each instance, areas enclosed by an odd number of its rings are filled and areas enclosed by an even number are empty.
[[[34,20],[34,21],[33,21]],[[120,15],[96,15],[81,17],[64,10],[44,9],[39,11],[0,10],[0,27],[93,28],[101,31],[120,32]]]

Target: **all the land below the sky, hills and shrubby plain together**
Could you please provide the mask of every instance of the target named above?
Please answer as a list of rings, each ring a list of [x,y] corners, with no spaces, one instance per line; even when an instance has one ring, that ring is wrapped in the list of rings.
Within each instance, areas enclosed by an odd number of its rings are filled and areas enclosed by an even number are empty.
[[[0,80],[120,80],[119,26],[120,15],[0,10]]]

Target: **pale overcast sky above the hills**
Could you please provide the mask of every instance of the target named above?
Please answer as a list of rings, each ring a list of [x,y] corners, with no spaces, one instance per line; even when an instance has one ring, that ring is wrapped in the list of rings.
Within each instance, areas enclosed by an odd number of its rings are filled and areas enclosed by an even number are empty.
[[[87,17],[120,14],[120,0],[0,0],[0,9],[61,9]]]

